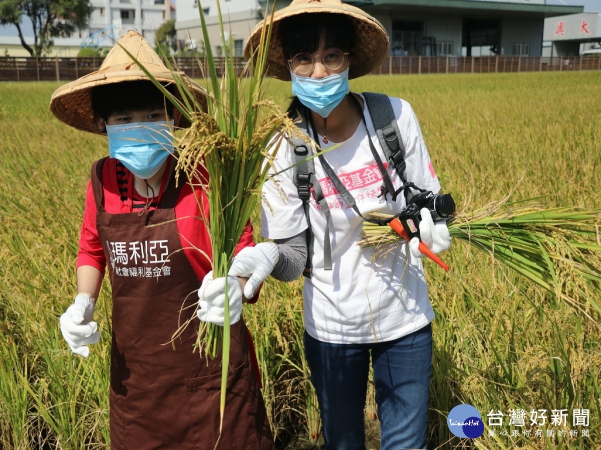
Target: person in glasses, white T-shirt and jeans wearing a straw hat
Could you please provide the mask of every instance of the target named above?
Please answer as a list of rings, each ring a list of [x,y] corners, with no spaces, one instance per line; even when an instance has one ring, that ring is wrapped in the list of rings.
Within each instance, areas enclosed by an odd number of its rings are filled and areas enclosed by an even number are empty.
[[[364,94],[349,89],[349,79],[370,73],[386,59],[388,35],[374,17],[340,0],[294,0],[251,32],[247,59],[258,47],[261,29],[271,21],[267,74],[291,81],[294,97],[288,114],[306,124],[307,134],[326,152],[314,159],[307,217],[296,172],[285,170],[297,162],[293,152],[301,146],[284,143],[279,148],[273,167],[276,181],[268,180],[263,188],[261,234],[273,242],[258,244],[244,257],[254,256],[263,275],[294,280],[305,268],[310,239],[305,230],[314,236],[312,269],[304,283],[305,353],[326,448],[365,448],[370,360],[381,448],[426,448],[435,314],[419,239],[375,261],[370,248],[356,244],[362,215],[396,214],[406,206],[403,195],[392,195],[403,187],[403,178],[381,162],[386,157],[371,120],[375,111],[368,110]],[[389,98],[389,103],[405,147],[404,179],[438,192],[440,184],[413,110],[400,98]],[[394,190],[383,190],[386,177]],[[356,208],[341,195],[344,190],[352,193]],[[433,253],[447,250],[451,237],[446,223],[421,213],[424,243]],[[274,242],[279,259],[270,270],[264,249]],[[264,260],[268,263],[261,265]]]

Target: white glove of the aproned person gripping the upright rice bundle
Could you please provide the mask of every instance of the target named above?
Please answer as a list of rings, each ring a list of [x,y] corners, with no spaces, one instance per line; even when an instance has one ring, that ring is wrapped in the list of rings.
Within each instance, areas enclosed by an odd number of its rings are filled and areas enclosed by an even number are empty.
[[[198,289],[198,310],[196,312],[198,319],[224,326],[226,283],[230,299],[230,325],[240,320],[242,315],[240,281],[231,275],[213,280],[213,271],[205,275],[203,284]]]

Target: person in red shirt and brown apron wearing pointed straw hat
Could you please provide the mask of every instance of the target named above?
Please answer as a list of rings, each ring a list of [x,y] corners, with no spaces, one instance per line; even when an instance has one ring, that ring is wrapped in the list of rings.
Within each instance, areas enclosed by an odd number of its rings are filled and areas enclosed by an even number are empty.
[[[205,289],[207,300],[218,301],[228,283],[239,305],[231,308],[221,434],[221,358],[194,354],[194,320],[180,328],[196,309],[196,292],[211,270],[209,234],[197,220],[208,216],[208,201],[201,180],[175,182],[172,131],[189,123],[147,73],[177,101],[206,108],[206,91],[169,71],[133,30],[99,70],[56,89],[50,100],[52,113],[67,125],[108,136],[110,154],[91,171],[76,264],[78,293],[60,318],[61,332],[73,353],[90,354],[88,346],[100,338],[94,307],[108,266],[111,448],[213,449],[219,441],[218,448],[272,450],[252,341],[240,320],[245,280],[218,278]],[[252,245],[249,226],[239,249]],[[222,325],[218,308],[198,315]]]

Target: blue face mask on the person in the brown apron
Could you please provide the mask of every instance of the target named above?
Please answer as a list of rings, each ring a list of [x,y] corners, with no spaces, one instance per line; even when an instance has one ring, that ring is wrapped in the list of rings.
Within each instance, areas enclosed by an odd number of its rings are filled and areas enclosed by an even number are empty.
[[[148,179],[173,152],[172,128],[173,121],[106,125],[109,155],[121,161],[133,175]]]

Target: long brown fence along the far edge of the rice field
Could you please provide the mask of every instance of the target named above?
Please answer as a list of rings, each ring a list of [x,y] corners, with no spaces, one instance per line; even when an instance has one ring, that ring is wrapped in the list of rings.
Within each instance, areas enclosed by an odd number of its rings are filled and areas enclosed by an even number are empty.
[[[192,78],[208,74],[202,59],[175,58],[175,67]],[[217,76],[224,59],[216,59]],[[70,81],[96,70],[102,58],[16,58],[0,57],[2,81]],[[237,70],[245,66],[236,59]],[[373,74],[504,73],[572,70],[601,70],[601,55],[556,56],[390,56]]]

